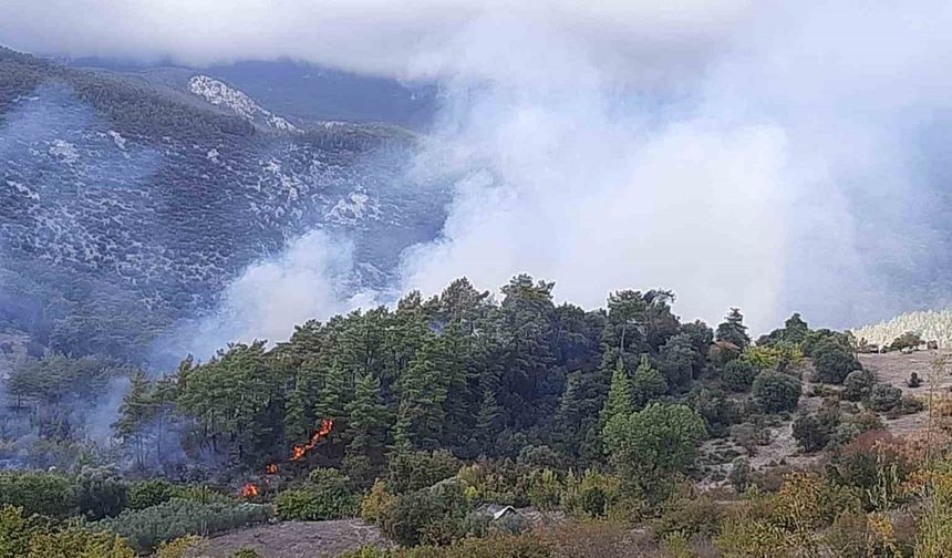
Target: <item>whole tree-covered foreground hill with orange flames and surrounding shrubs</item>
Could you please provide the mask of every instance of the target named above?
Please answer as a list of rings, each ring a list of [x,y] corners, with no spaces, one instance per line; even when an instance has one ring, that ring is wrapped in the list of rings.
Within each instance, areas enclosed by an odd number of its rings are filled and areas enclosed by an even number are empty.
[[[348,518],[391,545],[352,558],[952,556],[940,353],[910,393],[799,314],[753,340],[738,309],[711,328],[670,291],[584,310],[553,287],[459,279],[165,375],[24,361],[0,557],[205,556],[201,537]],[[110,391],[117,413],[91,418]],[[928,424],[897,436],[903,417]]]

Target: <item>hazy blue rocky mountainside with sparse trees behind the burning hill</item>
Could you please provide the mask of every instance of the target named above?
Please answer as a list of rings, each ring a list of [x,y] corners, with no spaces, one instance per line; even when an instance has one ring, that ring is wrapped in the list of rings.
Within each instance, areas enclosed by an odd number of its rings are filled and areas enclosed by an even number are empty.
[[[385,125],[270,130],[0,49],[0,319],[58,351],[141,359],[315,228],[352,239],[355,286],[380,287],[442,226],[445,193],[405,177],[414,142]]]

